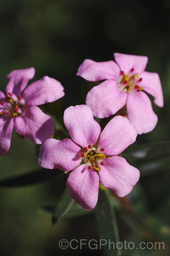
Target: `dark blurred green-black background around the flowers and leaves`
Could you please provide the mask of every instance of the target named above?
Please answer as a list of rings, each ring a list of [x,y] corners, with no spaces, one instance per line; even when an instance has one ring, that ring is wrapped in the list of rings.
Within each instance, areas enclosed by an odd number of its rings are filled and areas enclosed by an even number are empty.
[[[111,0],[6,0],[0,2],[0,89],[14,69],[35,67],[32,81],[49,75],[62,83],[65,97],[45,110],[62,119],[70,105],[85,104],[92,84],[75,73],[86,58],[113,59],[113,53],[146,55],[147,71],[157,72],[162,82],[165,107],[153,109],[156,128],[138,136],[136,144],[170,140],[170,1]],[[153,102],[153,101],[152,101]],[[61,120],[62,122],[62,120]],[[10,151],[0,157],[1,179],[39,168],[35,145],[13,132]],[[120,237],[129,241],[170,241],[170,175],[161,170],[141,178],[130,199],[143,213],[143,227],[129,227],[119,216]],[[60,239],[99,239],[94,215],[63,219],[51,226],[42,205],[55,204],[60,193],[57,182],[0,189],[0,255],[53,256],[101,255],[101,250],[60,250]],[[132,226],[133,226],[132,225]],[[136,226],[135,226],[136,225]],[[152,236],[148,235],[152,234]],[[146,234],[147,233],[147,234]],[[153,240],[154,240],[153,239]],[[168,249],[130,250],[124,255],[169,255]],[[113,254],[114,255],[114,254]]]

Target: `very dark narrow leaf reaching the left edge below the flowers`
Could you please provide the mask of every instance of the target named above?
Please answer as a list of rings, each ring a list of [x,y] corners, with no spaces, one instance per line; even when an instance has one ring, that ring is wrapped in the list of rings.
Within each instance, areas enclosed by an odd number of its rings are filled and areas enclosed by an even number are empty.
[[[19,174],[12,176],[0,181],[0,187],[17,187],[17,186],[28,186],[39,182],[45,182],[54,179],[57,176],[62,175],[58,169],[49,170],[41,168],[29,173]]]

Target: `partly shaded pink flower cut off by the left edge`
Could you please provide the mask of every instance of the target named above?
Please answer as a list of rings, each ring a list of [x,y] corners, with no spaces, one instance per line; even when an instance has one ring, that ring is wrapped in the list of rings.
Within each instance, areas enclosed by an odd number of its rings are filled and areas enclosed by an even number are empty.
[[[13,70],[6,77],[6,97],[0,91],[0,155],[10,149],[13,128],[36,144],[54,133],[52,118],[36,105],[60,99],[64,96],[64,88],[60,82],[44,76],[25,89],[34,74],[34,68]]]

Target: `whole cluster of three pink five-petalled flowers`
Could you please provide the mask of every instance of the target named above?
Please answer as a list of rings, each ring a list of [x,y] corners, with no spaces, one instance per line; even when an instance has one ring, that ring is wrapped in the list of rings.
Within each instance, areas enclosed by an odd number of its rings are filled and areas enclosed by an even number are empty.
[[[77,75],[101,83],[88,92],[86,105],[65,110],[64,124],[70,139],[50,138],[53,120],[38,108],[64,96],[60,82],[44,76],[25,88],[35,74],[34,68],[14,70],[7,75],[6,96],[0,91],[0,154],[10,148],[13,127],[21,136],[42,144],[39,165],[67,173],[68,192],[85,210],[95,207],[100,183],[118,197],[132,191],[139,170],[120,154],[135,142],[137,134],[152,131],[157,124],[146,93],[163,107],[159,76],[145,71],[148,58],[120,53],[114,57],[116,62],[86,59],[79,67]],[[115,117],[101,131],[94,116],[111,115]]]

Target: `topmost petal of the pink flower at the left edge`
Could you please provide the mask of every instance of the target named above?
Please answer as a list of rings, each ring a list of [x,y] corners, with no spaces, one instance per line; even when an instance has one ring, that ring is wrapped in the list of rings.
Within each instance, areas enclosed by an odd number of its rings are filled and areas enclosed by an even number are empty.
[[[5,94],[14,93],[20,96],[23,89],[27,86],[28,81],[32,79],[34,75],[34,68],[13,70],[6,76],[8,83],[5,88]]]

